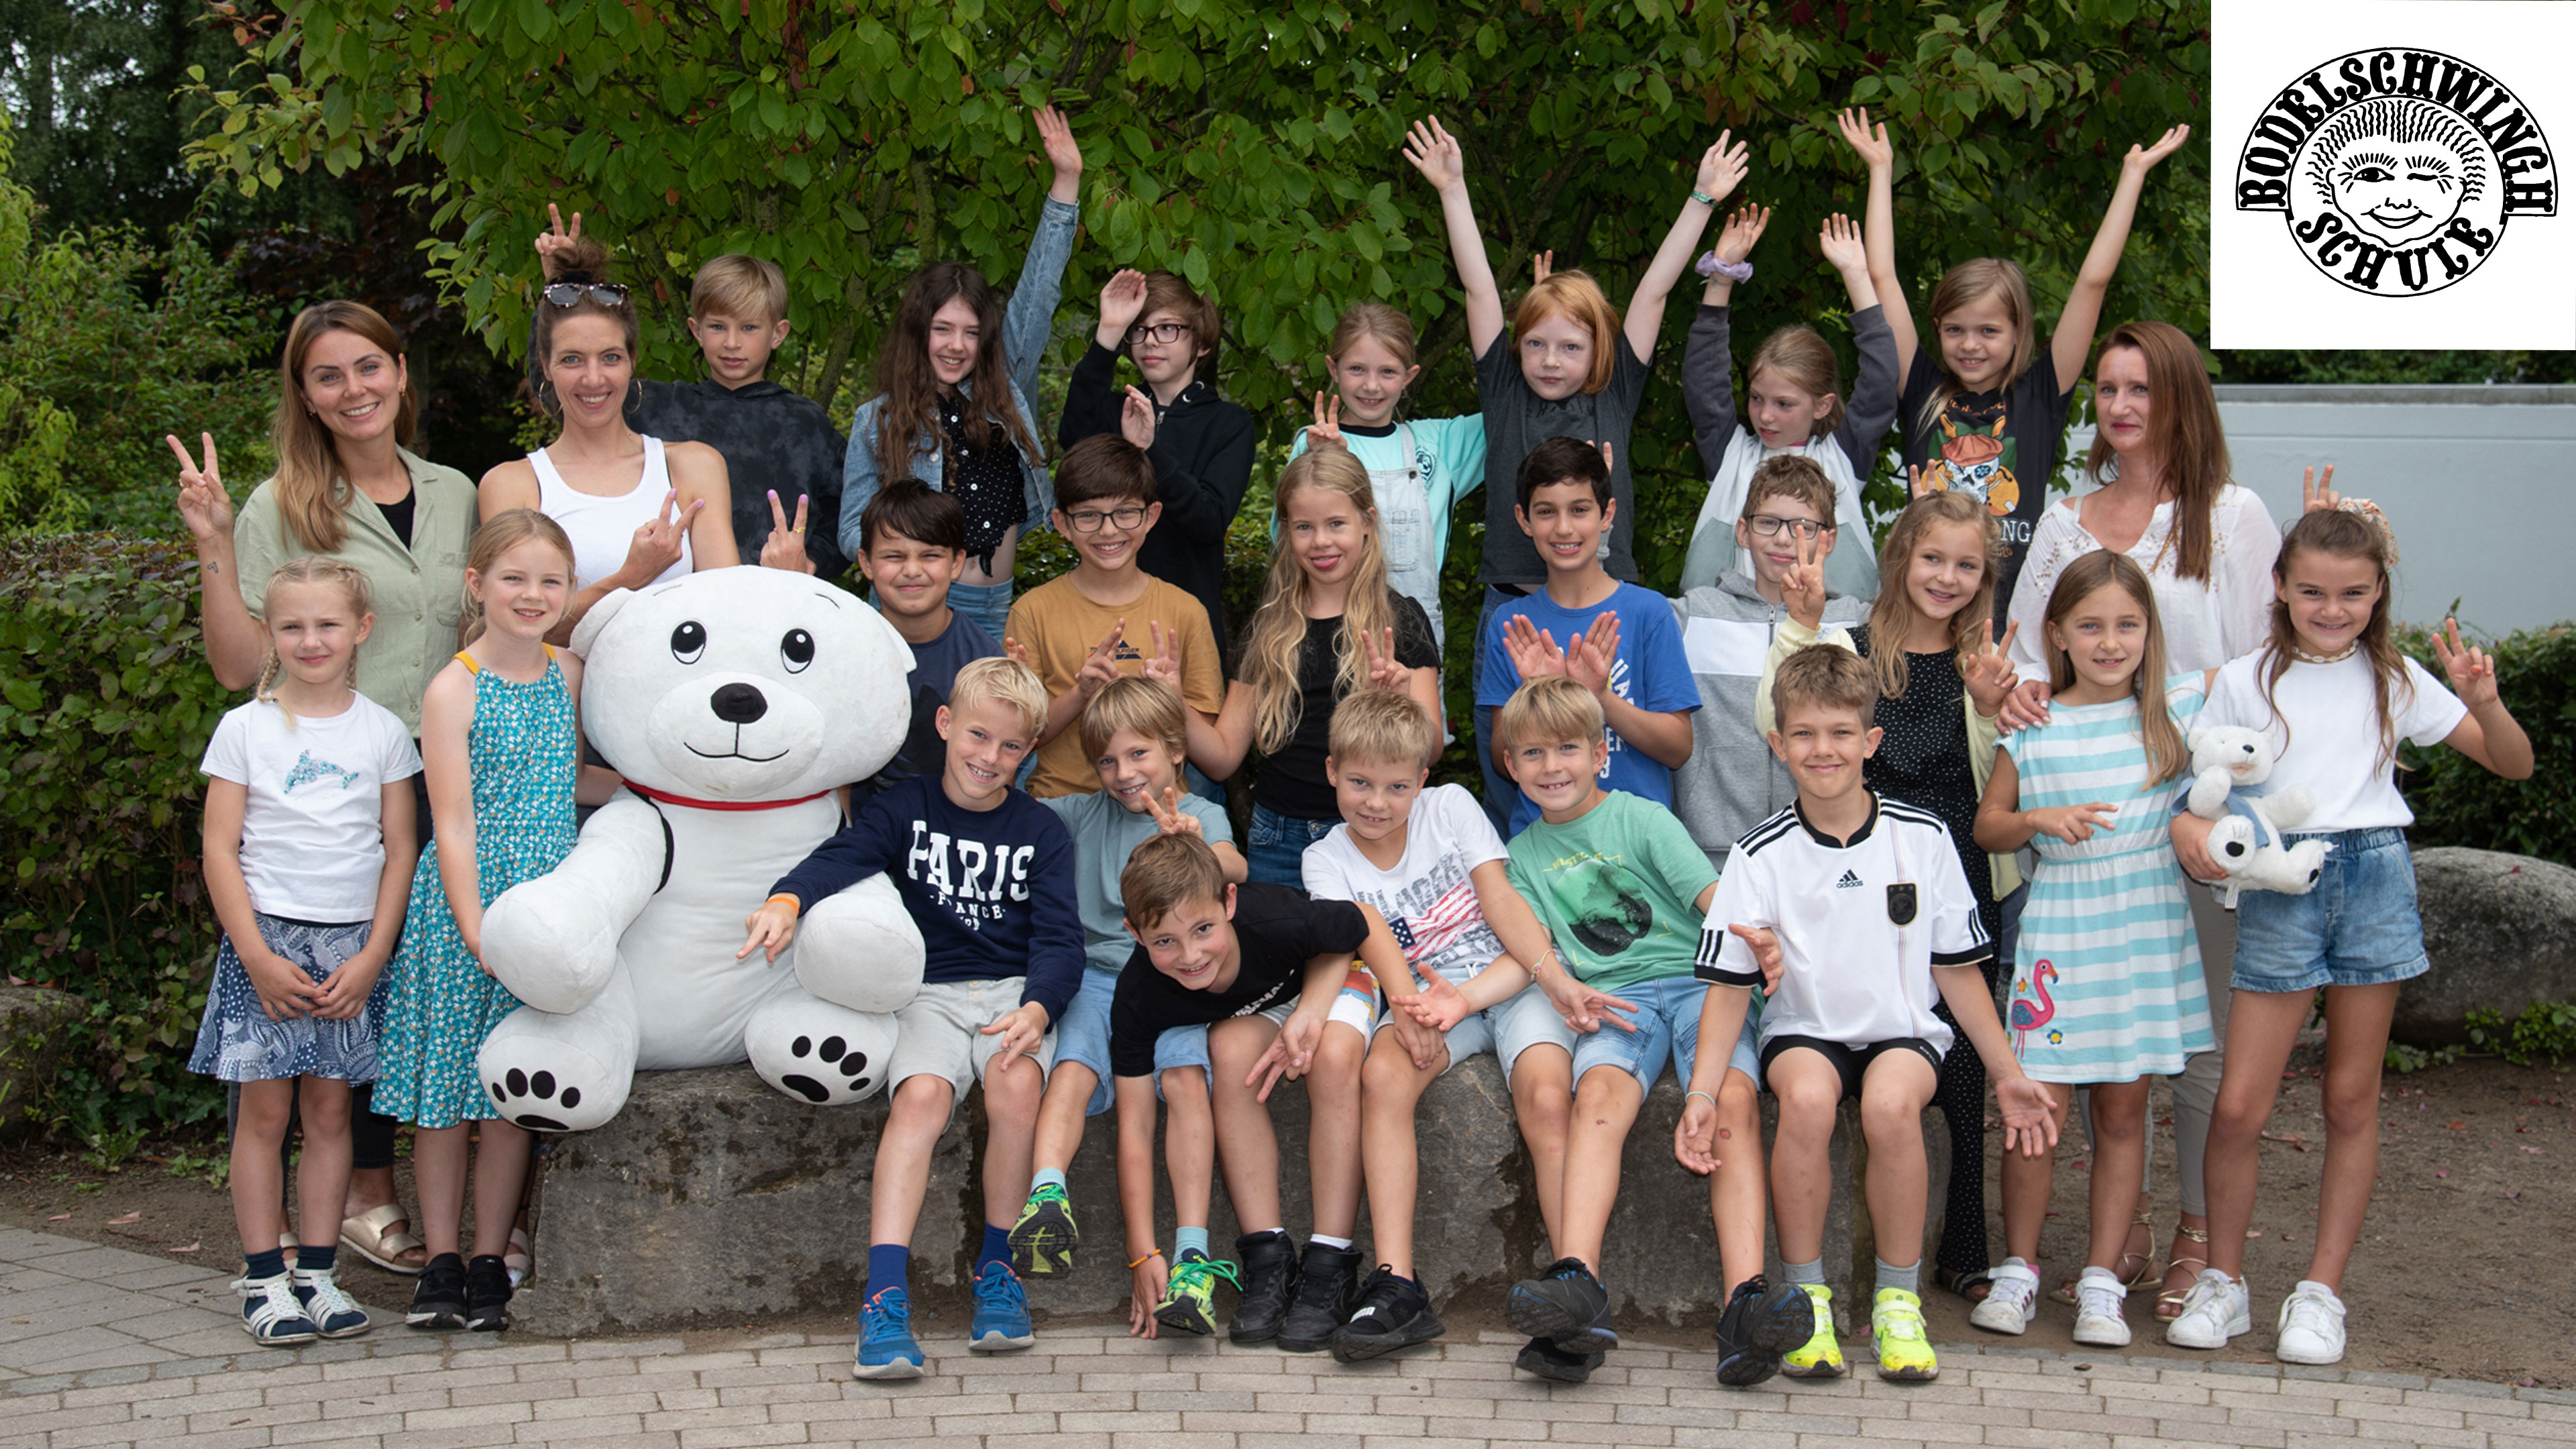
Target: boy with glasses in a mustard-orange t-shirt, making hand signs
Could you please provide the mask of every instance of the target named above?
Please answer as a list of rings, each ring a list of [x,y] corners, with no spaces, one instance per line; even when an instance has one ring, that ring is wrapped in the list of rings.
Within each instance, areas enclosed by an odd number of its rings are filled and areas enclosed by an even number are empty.
[[[1213,722],[1226,701],[1206,606],[1144,570],[1144,541],[1162,521],[1157,492],[1151,459],[1121,436],[1082,438],[1056,464],[1051,521],[1079,562],[1010,606],[1005,639],[1038,670],[1048,694],[1038,766],[1028,776],[1038,799],[1100,789],[1100,773],[1082,753],[1079,722],[1113,678],[1167,660],[1185,706]]]

